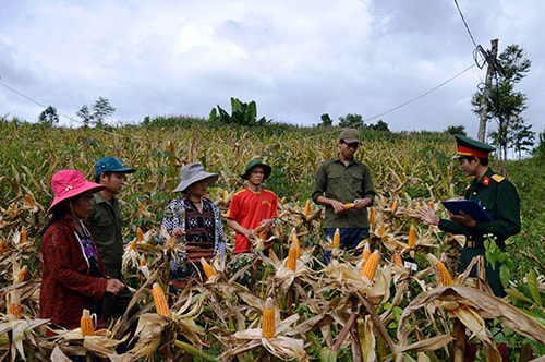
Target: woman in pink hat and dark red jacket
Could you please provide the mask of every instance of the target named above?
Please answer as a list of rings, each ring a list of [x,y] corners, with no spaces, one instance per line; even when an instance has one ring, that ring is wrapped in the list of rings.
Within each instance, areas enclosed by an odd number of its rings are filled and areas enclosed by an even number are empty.
[[[93,209],[93,194],[105,186],[89,182],[82,172],[62,170],[53,174],[55,198],[41,231],[40,318],[56,327],[80,326],[84,309],[101,319],[101,300],[117,294],[124,285],[104,274],[97,246],[84,221]]]

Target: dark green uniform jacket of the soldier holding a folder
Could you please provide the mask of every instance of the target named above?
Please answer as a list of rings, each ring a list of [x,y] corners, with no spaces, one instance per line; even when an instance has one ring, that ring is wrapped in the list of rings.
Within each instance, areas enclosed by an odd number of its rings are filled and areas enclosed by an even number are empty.
[[[504,242],[520,232],[520,196],[514,185],[488,168],[481,178],[474,178],[465,190],[464,198],[476,200],[491,215],[492,221],[477,221],[469,228],[452,220],[439,220],[443,231],[464,234],[482,240],[485,234],[494,234],[496,242]]]

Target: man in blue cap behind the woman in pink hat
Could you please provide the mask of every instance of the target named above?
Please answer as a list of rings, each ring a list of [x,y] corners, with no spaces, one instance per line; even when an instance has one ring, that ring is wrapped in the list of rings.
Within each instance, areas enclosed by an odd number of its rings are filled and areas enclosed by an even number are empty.
[[[124,282],[121,274],[122,256],[124,252],[121,227],[123,219],[116,197],[125,184],[125,174],[136,170],[124,167],[116,157],[104,157],[95,165],[95,181],[106,185],[97,192],[93,200],[93,213],[88,221],[93,228],[98,252],[102,258],[106,275]],[[132,293],[125,288],[117,295],[107,295],[104,299],[104,314],[106,318],[122,316]]]

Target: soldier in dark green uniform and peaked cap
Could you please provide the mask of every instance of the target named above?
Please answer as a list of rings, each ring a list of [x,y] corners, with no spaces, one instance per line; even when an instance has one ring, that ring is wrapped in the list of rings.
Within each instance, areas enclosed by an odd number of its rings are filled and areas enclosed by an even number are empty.
[[[474,177],[465,190],[465,200],[476,200],[492,217],[492,221],[475,221],[471,216],[460,213],[450,214],[450,220],[439,219],[435,212],[424,207],[419,212],[422,221],[436,225],[441,231],[465,236],[458,272],[463,272],[471,260],[485,256],[484,240],[492,236],[496,244],[505,251],[506,240],[520,232],[520,197],[514,185],[488,167],[488,154],[494,147],[456,135],[457,154],[452,157],[460,162],[460,169],[468,177]],[[485,261],[486,279],[494,294],[505,297],[506,292],[499,280],[499,262],[493,267]],[[473,268],[472,277],[476,276]]]

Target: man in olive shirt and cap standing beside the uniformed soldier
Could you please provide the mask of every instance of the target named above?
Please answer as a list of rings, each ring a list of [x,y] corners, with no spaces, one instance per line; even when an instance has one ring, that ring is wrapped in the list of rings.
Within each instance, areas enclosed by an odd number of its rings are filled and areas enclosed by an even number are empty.
[[[324,161],[316,172],[312,200],[326,206],[324,229],[327,236],[332,240],[339,228],[340,245],[352,250],[368,237],[366,207],[373,205],[375,190],[367,166],[354,158],[361,145],[360,132],[342,130],[338,145],[337,156]],[[346,209],[348,203],[353,203],[353,207]],[[329,261],[329,253],[326,253],[325,261]]]

